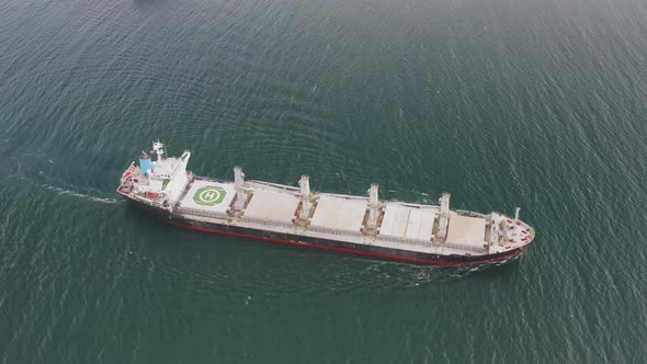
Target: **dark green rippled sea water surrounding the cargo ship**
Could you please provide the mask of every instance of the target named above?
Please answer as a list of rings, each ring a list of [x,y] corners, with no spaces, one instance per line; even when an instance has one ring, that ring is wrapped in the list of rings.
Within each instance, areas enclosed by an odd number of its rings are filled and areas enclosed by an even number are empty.
[[[647,362],[643,0],[4,0],[0,363]],[[198,174],[511,213],[472,272],[166,226]]]

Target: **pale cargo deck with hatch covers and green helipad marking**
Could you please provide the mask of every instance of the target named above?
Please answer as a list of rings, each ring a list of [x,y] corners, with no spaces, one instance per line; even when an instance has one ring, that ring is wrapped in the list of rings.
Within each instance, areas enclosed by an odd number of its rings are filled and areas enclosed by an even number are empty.
[[[188,186],[174,213],[205,223],[458,255],[485,255],[517,249],[525,244],[522,229],[529,228],[525,224],[511,224],[506,216],[496,213],[481,215],[452,212],[446,239],[439,243],[434,240],[439,206],[382,202],[379,227],[375,234],[366,235],[363,226],[368,198],[332,193],[315,193],[316,203],[309,224],[299,226],[295,224],[300,201],[298,189],[260,181],[246,181],[245,189],[246,207],[241,214],[232,216],[230,206],[236,195],[234,183],[196,178]],[[492,241],[497,237],[497,227],[511,229],[512,239]],[[489,244],[489,249],[484,244]]]

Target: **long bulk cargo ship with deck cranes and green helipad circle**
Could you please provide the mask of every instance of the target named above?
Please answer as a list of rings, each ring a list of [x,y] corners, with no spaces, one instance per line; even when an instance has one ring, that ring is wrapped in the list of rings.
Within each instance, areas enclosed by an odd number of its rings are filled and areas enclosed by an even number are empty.
[[[535,236],[519,208],[514,217],[451,209],[449,193],[438,205],[381,201],[377,184],[366,196],[320,193],[308,175],[297,187],[246,180],[240,167],[227,181],[194,175],[190,158],[189,150],[166,157],[154,143],[117,192],[183,228],[420,264],[508,262]]]

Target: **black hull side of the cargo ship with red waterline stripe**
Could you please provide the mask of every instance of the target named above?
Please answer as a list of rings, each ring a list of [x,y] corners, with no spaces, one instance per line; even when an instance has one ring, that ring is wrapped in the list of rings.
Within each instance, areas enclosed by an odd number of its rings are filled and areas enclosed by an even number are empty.
[[[418,264],[433,264],[433,265],[467,265],[503,262],[519,257],[523,252],[523,248],[514,249],[496,254],[483,255],[443,255],[432,254],[419,251],[409,251],[400,249],[391,249],[385,247],[360,244],[341,240],[324,239],[317,237],[306,237],[300,235],[282,234],[274,231],[266,231],[253,229],[249,227],[231,226],[227,224],[205,223],[200,220],[192,220],[185,217],[174,215],[168,211],[157,207],[148,206],[137,201],[127,198],[137,207],[146,211],[149,214],[164,220],[171,225],[197,230],[202,232],[209,232],[216,235],[235,236],[241,238],[257,239],[270,242],[286,243],[293,246],[300,246],[307,248],[315,248],[321,250],[337,251],[342,253],[352,253],[359,255],[371,257],[383,260],[398,260]]]

